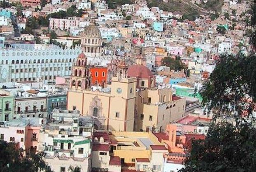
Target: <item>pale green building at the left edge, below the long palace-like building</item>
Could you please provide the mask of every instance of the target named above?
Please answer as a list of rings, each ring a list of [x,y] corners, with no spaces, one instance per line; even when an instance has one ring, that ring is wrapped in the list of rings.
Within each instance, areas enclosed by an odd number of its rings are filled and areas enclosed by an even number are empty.
[[[14,96],[9,91],[0,89],[0,121],[14,119]]]

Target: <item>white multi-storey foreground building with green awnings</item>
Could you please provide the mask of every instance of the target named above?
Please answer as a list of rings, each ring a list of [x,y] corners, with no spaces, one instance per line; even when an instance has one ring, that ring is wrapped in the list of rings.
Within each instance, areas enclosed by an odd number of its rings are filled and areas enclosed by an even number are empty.
[[[66,172],[70,166],[81,172],[91,171],[91,118],[79,118],[79,112],[55,110],[54,121],[40,133],[39,149],[55,172]]]

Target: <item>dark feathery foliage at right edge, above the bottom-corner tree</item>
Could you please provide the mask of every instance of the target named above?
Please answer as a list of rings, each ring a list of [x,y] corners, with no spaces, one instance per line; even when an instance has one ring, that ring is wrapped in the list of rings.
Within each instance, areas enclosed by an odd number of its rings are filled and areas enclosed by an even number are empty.
[[[256,102],[256,57],[221,55],[209,80],[204,84],[201,95],[202,104],[208,111],[214,109],[219,115],[251,114]],[[236,112],[234,112],[236,111]]]

